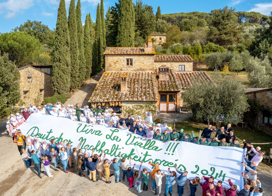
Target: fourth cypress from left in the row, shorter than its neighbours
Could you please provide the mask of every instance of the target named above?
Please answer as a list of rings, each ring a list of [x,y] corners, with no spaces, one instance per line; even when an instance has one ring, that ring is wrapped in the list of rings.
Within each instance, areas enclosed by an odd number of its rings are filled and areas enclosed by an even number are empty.
[[[86,15],[85,26],[84,26],[84,55],[86,59],[86,74],[85,78],[89,78],[92,72],[92,37],[89,26],[89,16]]]

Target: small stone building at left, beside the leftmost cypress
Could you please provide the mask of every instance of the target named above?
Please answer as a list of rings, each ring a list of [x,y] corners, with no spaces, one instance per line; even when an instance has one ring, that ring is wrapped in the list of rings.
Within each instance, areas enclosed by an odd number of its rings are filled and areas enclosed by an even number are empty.
[[[54,95],[52,76],[30,65],[18,68],[20,73],[21,100],[29,104],[40,105],[44,97]]]

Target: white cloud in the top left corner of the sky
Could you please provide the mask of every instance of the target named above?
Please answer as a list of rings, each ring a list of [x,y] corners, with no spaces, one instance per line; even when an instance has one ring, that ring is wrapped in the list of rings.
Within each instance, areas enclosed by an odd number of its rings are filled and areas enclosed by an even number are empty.
[[[8,0],[7,2],[0,3],[0,13],[6,13],[5,18],[13,17],[17,12],[29,9],[32,7],[33,0]]]

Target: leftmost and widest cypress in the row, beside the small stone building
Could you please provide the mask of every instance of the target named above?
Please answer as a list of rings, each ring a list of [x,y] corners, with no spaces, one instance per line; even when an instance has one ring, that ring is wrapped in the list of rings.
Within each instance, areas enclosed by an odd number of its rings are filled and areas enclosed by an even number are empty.
[[[55,35],[52,86],[56,93],[68,95],[70,90],[70,37],[65,0],[60,0]]]

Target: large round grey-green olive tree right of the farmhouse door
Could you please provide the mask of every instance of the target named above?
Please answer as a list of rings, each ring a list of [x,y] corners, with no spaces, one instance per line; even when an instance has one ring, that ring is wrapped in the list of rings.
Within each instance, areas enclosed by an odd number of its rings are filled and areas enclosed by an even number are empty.
[[[242,122],[243,113],[248,110],[247,97],[239,81],[224,77],[216,81],[195,81],[183,93],[187,108],[191,109],[197,121],[238,124]]]

